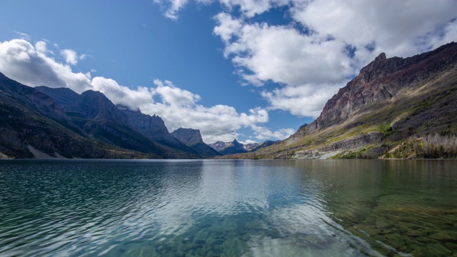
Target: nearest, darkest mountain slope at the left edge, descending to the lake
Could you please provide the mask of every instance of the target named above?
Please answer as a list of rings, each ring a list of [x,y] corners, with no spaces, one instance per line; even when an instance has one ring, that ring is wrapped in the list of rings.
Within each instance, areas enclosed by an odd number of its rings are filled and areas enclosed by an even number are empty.
[[[0,73],[0,156],[34,158],[159,158],[94,141],[46,94]]]

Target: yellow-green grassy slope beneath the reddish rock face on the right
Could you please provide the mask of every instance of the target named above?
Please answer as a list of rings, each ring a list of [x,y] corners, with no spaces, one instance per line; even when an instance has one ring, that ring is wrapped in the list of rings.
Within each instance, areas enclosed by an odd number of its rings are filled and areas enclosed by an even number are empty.
[[[377,142],[364,143],[347,151],[360,157],[371,151],[379,156],[411,136],[457,134],[457,67],[403,89],[386,102],[359,112],[346,121],[304,137],[290,137],[281,143],[255,153],[236,154],[223,158],[291,158],[296,151],[328,150],[336,143],[366,135],[376,135]],[[357,154],[354,154],[357,153]],[[370,157],[376,157],[370,156]],[[338,157],[343,157],[341,154]]]

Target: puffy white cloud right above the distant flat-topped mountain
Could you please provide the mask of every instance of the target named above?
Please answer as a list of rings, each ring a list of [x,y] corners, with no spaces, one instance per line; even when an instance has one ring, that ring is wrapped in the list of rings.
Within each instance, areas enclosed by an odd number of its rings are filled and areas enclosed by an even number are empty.
[[[154,98],[158,101],[142,104],[141,111],[146,114],[157,114],[164,119],[169,131],[180,127],[199,129],[204,141],[232,141],[238,136],[236,131],[241,127],[268,121],[265,109],[255,108],[248,113],[238,113],[232,106],[216,105],[211,107],[198,104],[200,96],[179,89],[171,81],[155,80]]]

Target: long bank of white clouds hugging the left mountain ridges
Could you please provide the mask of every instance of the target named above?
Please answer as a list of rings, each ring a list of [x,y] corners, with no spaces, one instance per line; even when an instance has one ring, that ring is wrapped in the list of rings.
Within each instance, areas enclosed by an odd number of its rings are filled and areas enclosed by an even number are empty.
[[[0,71],[29,86],[68,87],[78,93],[89,89],[101,91],[114,104],[161,116],[169,131],[179,127],[200,129],[204,141],[209,143],[232,141],[238,137],[236,131],[241,127],[253,128],[251,126],[268,122],[266,109],[257,107],[240,113],[232,106],[203,106],[199,104],[198,94],[180,89],[171,81],[155,80],[154,86],[131,89],[114,79],[92,78],[90,71],[74,73],[71,61],[61,64],[49,55],[51,51],[44,41],[35,45],[24,39],[4,41],[0,43]]]

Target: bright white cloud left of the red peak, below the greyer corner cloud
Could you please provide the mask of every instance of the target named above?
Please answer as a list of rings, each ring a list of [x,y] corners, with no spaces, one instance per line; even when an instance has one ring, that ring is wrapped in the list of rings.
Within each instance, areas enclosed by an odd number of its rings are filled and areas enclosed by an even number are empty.
[[[248,24],[229,14],[216,16],[214,33],[226,43],[225,55],[249,83],[282,85],[261,95],[269,109],[316,118],[323,105],[356,70],[345,44],[301,34],[289,26]]]

